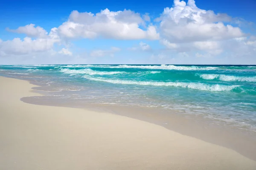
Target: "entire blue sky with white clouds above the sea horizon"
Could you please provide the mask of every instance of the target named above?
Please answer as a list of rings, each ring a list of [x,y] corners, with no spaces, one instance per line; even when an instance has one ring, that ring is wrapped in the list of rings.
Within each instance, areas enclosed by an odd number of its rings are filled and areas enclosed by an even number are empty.
[[[0,64],[256,64],[256,0],[12,0]]]

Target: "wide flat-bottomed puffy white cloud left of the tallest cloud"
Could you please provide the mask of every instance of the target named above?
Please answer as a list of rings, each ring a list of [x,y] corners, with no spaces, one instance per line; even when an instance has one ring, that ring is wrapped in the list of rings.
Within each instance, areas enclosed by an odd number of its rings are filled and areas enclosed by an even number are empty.
[[[143,30],[140,25],[144,21],[140,14],[134,11],[109,11],[107,8],[99,13],[79,13],[73,11],[69,20],[58,27],[58,32],[64,38],[96,38],[104,37],[118,40],[157,40],[159,34],[154,26]]]

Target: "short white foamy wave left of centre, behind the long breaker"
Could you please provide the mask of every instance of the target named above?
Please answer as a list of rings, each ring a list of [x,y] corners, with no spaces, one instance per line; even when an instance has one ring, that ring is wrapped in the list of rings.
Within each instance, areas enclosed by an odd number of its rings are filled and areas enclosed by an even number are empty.
[[[111,74],[122,74],[123,71],[94,71],[90,68],[85,68],[81,70],[70,70],[68,68],[62,68],[60,70],[64,74],[89,74],[89,75],[111,75]]]

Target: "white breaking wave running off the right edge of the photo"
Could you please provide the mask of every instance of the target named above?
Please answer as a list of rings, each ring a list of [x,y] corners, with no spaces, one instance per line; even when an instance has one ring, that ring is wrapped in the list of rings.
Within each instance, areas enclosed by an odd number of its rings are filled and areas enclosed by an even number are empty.
[[[242,76],[227,76],[224,74],[197,74],[202,79],[219,79],[221,81],[239,81],[239,82],[256,82],[256,76],[253,77],[242,77]]]

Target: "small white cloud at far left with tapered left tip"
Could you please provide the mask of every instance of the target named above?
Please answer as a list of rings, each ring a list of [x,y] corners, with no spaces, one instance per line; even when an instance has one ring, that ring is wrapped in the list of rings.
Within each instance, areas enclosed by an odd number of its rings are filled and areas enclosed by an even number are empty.
[[[19,34],[26,34],[26,36],[28,36],[28,37],[35,37],[35,38],[47,37],[47,31],[40,26],[35,27],[35,24],[28,24],[26,26],[20,26],[17,29],[6,28],[6,30],[11,31],[11,32],[16,32]]]

